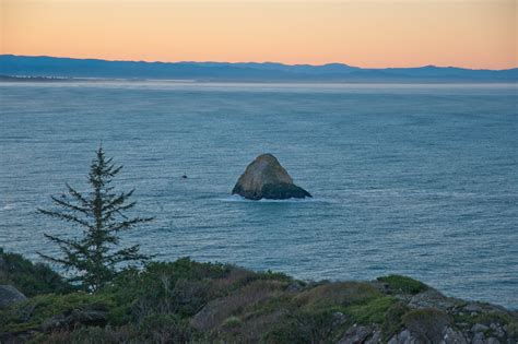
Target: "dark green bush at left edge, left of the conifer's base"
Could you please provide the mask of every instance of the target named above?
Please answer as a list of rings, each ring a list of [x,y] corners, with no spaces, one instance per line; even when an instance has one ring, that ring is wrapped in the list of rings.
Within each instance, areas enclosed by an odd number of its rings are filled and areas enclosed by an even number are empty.
[[[27,297],[73,290],[73,287],[48,265],[33,264],[21,254],[5,253],[2,248],[0,248],[0,284],[13,285]]]

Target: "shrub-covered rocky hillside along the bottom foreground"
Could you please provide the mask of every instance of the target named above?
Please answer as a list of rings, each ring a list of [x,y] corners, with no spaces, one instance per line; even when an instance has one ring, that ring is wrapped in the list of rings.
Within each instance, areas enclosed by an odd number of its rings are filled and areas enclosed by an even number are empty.
[[[0,252],[1,343],[516,343],[518,316],[405,276],[305,282],[188,258],[129,269],[95,293]]]

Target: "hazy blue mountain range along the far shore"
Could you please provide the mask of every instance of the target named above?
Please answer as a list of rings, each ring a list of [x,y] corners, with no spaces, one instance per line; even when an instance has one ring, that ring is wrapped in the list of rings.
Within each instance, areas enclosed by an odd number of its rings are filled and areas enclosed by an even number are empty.
[[[472,70],[454,67],[364,69],[273,62],[144,62],[0,55],[2,80],[12,76],[174,79],[261,82],[517,82],[518,68]],[[10,76],[10,78],[5,78]],[[33,79],[34,80],[34,79]]]

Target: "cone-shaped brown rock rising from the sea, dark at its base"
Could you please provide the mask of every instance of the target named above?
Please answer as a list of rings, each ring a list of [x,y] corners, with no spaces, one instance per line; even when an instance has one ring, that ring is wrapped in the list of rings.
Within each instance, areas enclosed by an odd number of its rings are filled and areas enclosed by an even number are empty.
[[[248,200],[286,200],[311,197],[309,192],[293,183],[292,177],[272,154],[261,154],[239,177],[232,190]]]

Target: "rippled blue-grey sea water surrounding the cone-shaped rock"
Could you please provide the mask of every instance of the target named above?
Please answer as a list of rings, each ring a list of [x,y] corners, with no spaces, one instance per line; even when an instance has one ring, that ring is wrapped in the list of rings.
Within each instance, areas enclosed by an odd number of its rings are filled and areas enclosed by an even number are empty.
[[[518,308],[516,85],[3,83],[0,95],[9,251],[56,251],[43,233],[67,229],[35,209],[64,182],[85,190],[102,142],[125,165],[120,189],[156,217],[125,244],[157,259],[399,273]],[[264,152],[315,199],[231,197]]]

